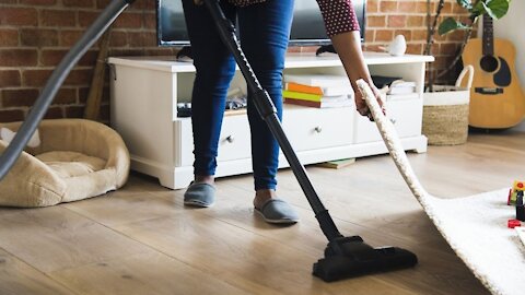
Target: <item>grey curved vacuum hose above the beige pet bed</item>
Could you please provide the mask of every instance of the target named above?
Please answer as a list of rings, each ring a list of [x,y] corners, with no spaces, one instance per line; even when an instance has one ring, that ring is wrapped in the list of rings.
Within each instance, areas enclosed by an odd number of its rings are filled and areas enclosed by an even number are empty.
[[[47,81],[38,99],[20,127],[13,141],[0,155],[0,180],[14,165],[42,119],[47,113],[55,95],[79,59],[93,46],[93,44],[106,32],[118,15],[135,0],[114,0],[98,15],[94,23],[85,31],[80,40],[63,57],[51,76]]]

